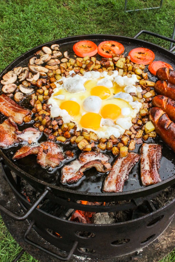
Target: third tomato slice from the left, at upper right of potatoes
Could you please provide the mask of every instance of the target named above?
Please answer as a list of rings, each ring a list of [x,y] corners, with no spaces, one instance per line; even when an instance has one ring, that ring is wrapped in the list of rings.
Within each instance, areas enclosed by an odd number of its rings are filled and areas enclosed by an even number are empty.
[[[155,54],[150,49],[144,47],[132,49],[129,52],[129,56],[131,57],[131,61],[133,63],[144,65],[150,64],[155,58]]]

